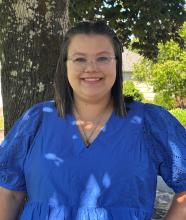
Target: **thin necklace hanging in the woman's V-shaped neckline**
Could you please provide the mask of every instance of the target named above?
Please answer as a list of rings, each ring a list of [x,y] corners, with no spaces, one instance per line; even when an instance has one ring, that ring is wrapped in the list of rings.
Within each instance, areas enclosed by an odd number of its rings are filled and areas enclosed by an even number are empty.
[[[109,106],[109,105],[110,105],[110,102],[109,102],[109,104],[106,106],[106,108],[105,108],[106,110],[108,109],[108,106]],[[79,112],[77,111],[77,108],[76,108],[75,105],[74,105],[74,110],[75,110],[75,113],[78,115],[79,119],[81,120],[81,116],[80,116]],[[92,131],[90,132],[89,135],[86,134],[86,132],[85,132],[83,126],[80,126],[80,127],[79,127],[80,130],[81,130],[81,132],[82,132],[82,135],[83,135],[83,139],[84,139],[84,143],[85,143],[86,148],[89,148],[89,147],[90,147],[90,145],[91,145],[91,138],[92,138],[93,134],[95,134],[95,131],[96,131],[96,129],[98,128],[98,126],[100,125],[101,119],[102,119],[102,117],[105,115],[105,113],[106,113],[106,111],[103,111],[103,112],[100,114],[100,116],[99,116],[97,122],[95,123],[94,128],[92,129]]]

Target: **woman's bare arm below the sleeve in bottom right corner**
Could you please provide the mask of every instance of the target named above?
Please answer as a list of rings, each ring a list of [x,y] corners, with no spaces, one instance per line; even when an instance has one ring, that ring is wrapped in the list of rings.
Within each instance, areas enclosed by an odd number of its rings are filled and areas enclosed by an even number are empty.
[[[164,220],[186,220],[186,192],[174,196]]]

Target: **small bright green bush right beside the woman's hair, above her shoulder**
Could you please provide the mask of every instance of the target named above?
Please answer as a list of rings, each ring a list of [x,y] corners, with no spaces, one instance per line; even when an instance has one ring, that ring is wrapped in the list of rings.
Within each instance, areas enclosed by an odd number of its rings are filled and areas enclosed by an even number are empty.
[[[129,80],[123,83],[123,94],[125,96],[132,96],[136,101],[142,101],[144,99],[143,94],[136,89],[134,83]]]

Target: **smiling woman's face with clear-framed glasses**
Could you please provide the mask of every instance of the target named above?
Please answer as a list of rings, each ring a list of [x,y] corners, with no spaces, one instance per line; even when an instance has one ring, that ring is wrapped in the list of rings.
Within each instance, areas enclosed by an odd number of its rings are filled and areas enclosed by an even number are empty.
[[[105,35],[77,34],[69,44],[67,77],[74,98],[110,97],[116,79],[113,45]]]

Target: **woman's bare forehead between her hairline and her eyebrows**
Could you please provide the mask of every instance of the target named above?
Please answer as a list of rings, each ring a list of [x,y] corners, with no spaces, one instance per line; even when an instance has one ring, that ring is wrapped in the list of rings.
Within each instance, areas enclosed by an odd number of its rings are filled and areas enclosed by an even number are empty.
[[[113,53],[113,43],[106,35],[101,34],[77,34],[72,37],[68,53]]]

